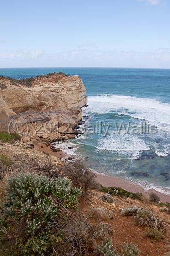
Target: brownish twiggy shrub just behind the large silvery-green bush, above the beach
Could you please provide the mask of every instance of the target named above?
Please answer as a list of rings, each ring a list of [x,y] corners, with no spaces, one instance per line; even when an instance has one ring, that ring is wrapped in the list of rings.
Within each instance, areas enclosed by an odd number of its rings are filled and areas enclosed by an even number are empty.
[[[72,181],[75,187],[81,187],[84,193],[96,186],[96,174],[81,160],[65,165],[62,172]]]

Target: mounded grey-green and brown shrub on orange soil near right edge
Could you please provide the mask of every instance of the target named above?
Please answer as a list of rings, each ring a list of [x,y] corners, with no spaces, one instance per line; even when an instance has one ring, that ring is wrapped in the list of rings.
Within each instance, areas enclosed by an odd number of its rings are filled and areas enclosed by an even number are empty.
[[[134,217],[136,224],[143,227],[162,229],[163,223],[153,216],[150,210],[139,209]]]

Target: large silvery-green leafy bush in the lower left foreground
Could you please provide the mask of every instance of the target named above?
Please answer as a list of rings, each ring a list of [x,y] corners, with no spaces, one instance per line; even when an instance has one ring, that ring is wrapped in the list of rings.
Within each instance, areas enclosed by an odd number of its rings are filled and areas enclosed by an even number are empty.
[[[1,210],[2,239],[13,237],[24,256],[56,255],[53,248],[64,240],[60,230],[66,213],[77,209],[80,194],[67,178],[54,180],[35,174],[11,177]]]

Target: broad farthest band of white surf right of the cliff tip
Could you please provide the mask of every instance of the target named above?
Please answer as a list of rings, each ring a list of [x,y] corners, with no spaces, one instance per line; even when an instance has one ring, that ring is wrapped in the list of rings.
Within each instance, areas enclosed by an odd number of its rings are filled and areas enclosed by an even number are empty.
[[[149,121],[158,129],[170,132],[170,104],[155,99],[120,95],[88,97],[87,110],[92,113],[121,111],[119,114]]]

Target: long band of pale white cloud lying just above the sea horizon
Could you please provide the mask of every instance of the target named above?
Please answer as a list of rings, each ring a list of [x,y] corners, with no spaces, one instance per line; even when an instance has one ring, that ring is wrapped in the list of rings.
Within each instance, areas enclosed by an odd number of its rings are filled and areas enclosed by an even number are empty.
[[[76,47],[58,53],[22,50],[0,53],[0,67],[139,67],[170,68],[170,48],[150,51],[103,51]]]

